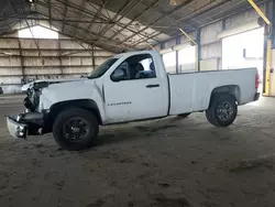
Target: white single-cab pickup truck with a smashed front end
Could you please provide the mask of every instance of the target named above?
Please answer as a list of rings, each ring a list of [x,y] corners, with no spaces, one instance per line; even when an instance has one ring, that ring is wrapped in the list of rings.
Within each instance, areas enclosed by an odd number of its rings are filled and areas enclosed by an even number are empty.
[[[155,51],[116,55],[88,78],[35,84],[25,111],[8,117],[15,138],[53,132],[67,150],[95,143],[99,126],[206,111],[210,123],[230,126],[238,106],[258,99],[256,68],[170,75]]]

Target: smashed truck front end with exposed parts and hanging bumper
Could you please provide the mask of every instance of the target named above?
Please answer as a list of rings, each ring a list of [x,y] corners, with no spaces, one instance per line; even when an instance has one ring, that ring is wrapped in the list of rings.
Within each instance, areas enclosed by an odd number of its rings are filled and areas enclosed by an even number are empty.
[[[14,138],[26,139],[28,135],[43,134],[47,112],[40,109],[42,88],[31,88],[24,99],[25,111],[18,116],[7,117],[7,126]]]

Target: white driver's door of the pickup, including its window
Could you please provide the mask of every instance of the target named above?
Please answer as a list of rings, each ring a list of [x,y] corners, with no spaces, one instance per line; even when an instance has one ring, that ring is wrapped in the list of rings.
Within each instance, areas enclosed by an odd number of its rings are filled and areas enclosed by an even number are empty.
[[[164,117],[167,108],[163,101],[166,98],[163,81],[150,54],[127,58],[105,79],[107,122]]]

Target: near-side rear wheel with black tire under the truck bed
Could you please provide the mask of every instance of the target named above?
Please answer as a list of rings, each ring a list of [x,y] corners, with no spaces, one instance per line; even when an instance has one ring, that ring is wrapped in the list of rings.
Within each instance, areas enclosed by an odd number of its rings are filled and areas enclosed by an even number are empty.
[[[227,106],[226,112],[221,112],[221,107]],[[220,94],[211,98],[210,107],[206,111],[207,120],[216,127],[229,127],[235,120],[238,105],[232,95]],[[224,116],[222,116],[224,115]]]

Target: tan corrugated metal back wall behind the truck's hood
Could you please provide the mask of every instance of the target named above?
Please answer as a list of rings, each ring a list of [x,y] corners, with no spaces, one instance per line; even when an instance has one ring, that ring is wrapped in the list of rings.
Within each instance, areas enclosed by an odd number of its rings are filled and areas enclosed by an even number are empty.
[[[0,39],[0,86],[4,94],[19,92],[28,79],[80,77],[112,55],[99,47],[87,50],[89,45],[63,35],[59,40],[14,36]]]

